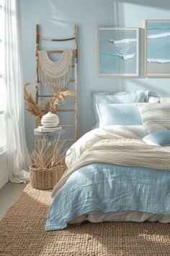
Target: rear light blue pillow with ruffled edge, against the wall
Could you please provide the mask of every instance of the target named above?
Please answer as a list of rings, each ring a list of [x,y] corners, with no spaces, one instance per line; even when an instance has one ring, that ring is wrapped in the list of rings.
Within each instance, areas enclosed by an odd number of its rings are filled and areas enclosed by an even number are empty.
[[[91,97],[96,119],[94,128],[97,128],[99,127],[99,113],[97,111],[97,103],[142,103],[146,101],[146,98],[148,97],[148,91],[122,91],[120,93],[93,92]]]

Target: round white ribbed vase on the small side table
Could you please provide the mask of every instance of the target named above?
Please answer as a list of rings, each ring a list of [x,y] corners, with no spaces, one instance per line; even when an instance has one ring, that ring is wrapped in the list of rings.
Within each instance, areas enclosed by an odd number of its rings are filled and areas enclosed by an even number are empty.
[[[57,127],[59,124],[59,118],[56,114],[53,114],[51,112],[48,112],[48,114],[45,114],[42,116],[41,124],[43,127]]]

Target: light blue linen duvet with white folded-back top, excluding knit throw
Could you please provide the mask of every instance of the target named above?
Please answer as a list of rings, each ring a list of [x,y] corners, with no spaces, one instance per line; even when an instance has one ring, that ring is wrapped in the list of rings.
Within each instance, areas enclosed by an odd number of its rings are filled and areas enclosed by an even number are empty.
[[[152,132],[164,130],[164,127],[154,124],[92,130],[68,150],[68,169],[99,140],[141,140]],[[166,147],[166,151],[169,152],[170,148]],[[170,171],[96,162],[82,166],[65,177],[67,179],[53,189],[46,231],[65,229],[69,221],[84,215],[97,218],[100,214],[114,216],[134,211],[170,215]]]

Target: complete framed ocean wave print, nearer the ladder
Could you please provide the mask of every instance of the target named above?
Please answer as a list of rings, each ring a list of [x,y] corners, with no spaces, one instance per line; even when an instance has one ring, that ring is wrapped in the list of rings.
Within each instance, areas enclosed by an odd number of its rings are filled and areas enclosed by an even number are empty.
[[[97,45],[99,76],[138,77],[138,27],[98,27]]]

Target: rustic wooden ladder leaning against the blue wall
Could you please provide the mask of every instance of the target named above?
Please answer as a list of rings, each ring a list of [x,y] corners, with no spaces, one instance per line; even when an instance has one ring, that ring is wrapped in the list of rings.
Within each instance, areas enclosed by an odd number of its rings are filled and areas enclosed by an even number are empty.
[[[74,27],[74,35],[71,38],[64,38],[64,39],[53,39],[53,38],[45,38],[45,37],[41,37],[40,36],[40,25],[36,25],[36,51],[35,51],[35,57],[36,57],[36,69],[35,69],[35,101],[38,103],[39,102],[39,98],[47,98],[47,97],[51,97],[51,95],[40,95],[39,94],[39,86],[40,86],[40,81],[38,80],[38,64],[39,64],[39,58],[38,58],[38,51],[40,51],[40,40],[45,40],[48,42],[66,42],[66,41],[70,41],[70,40],[74,40],[74,49],[73,49],[73,65],[72,65],[72,69],[73,69],[73,77],[69,80],[68,82],[68,86],[69,84],[73,84],[74,85],[74,92],[75,92],[75,97],[73,97],[73,108],[66,108],[66,109],[58,109],[56,111],[56,114],[58,113],[68,113],[68,112],[72,112],[74,113],[74,124],[60,124],[60,126],[64,129],[67,128],[74,128],[74,132],[73,132],[73,138],[68,139],[68,138],[64,138],[64,140],[66,140],[66,142],[75,142],[78,139],[78,109],[77,109],[77,89],[78,89],[78,26],[75,25]],[[63,50],[49,50],[47,51],[48,54],[62,54]]]

